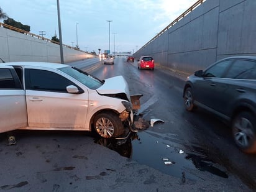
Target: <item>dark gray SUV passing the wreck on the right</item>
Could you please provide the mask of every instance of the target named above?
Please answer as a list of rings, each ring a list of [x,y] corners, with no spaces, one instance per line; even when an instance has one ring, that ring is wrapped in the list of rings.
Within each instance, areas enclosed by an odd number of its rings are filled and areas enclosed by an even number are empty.
[[[188,111],[198,107],[229,122],[235,143],[256,152],[256,57],[219,60],[186,81],[183,98]]]

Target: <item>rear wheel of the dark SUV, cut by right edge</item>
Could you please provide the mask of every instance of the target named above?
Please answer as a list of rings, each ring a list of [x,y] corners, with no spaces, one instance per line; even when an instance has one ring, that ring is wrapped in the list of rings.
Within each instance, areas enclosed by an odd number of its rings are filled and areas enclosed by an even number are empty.
[[[240,112],[232,121],[232,135],[235,144],[245,153],[256,152],[255,116],[247,111]]]

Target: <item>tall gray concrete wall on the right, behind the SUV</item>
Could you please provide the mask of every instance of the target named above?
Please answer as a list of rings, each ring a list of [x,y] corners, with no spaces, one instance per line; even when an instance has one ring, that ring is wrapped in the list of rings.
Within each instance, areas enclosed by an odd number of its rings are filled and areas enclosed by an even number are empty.
[[[206,0],[134,56],[188,73],[225,57],[256,56],[255,10],[255,0]]]

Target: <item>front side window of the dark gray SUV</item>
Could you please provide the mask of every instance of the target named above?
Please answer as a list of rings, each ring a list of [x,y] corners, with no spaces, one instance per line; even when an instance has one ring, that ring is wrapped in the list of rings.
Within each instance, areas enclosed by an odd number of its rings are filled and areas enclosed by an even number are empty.
[[[231,60],[216,63],[215,65],[208,68],[208,70],[204,71],[204,76],[221,78],[223,73],[227,70],[230,64]]]

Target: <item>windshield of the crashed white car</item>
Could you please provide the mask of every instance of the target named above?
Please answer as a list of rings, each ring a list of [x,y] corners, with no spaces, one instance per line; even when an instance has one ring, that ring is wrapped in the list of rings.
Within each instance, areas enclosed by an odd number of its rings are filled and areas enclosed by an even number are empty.
[[[103,85],[103,81],[100,81],[97,78],[94,78],[93,75],[89,75],[88,73],[76,68],[66,66],[59,68],[59,70],[80,81],[80,83],[83,83],[83,85],[87,86],[89,89],[98,89]]]

